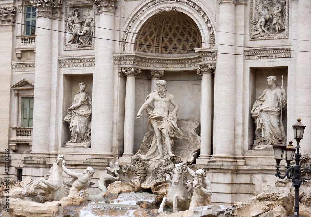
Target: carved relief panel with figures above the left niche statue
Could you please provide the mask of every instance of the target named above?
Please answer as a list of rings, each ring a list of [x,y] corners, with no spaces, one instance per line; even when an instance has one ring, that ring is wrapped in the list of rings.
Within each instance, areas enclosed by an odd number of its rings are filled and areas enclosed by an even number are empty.
[[[95,6],[92,1],[66,4],[64,50],[94,49]]]

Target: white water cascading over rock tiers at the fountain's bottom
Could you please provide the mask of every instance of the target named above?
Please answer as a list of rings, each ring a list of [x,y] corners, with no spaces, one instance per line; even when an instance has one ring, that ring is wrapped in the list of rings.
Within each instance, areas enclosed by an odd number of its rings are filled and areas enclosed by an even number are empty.
[[[103,202],[88,204],[80,210],[79,217],[144,217],[146,216],[146,211],[139,205],[136,205],[136,202],[152,202],[154,200],[156,200],[154,194],[123,193],[113,200],[113,204],[105,204]]]

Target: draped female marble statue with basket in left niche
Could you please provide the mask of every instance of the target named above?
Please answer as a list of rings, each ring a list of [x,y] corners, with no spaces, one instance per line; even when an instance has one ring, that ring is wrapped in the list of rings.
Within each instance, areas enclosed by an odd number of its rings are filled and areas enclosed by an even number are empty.
[[[73,98],[64,121],[70,122],[71,138],[66,145],[90,147],[92,98],[85,91],[86,84],[79,84],[80,91]]]

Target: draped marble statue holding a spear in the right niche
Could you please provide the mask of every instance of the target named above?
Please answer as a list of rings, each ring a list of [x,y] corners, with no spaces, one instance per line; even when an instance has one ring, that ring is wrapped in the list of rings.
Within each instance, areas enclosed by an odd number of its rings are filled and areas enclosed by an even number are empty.
[[[281,120],[281,110],[287,104],[283,87],[276,84],[276,76],[267,77],[269,87],[256,100],[251,110],[259,136],[254,142],[257,145],[274,145],[278,138],[286,143],[286,134]]]

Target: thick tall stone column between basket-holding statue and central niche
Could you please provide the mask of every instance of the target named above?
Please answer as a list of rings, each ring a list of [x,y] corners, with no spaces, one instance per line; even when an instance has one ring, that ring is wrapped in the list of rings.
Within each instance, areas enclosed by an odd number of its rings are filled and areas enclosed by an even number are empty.
[[[93,0],[99,21],[95,23],[95,71],[93,74],[93,158],[112,158],[114,104],[114,14],[117,0]],[[104,39],[100,39],[104,38]],[[108,39],[108,40],[105,40]]]

